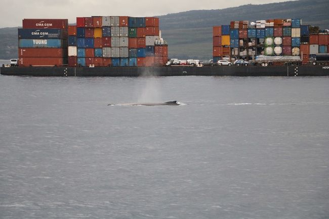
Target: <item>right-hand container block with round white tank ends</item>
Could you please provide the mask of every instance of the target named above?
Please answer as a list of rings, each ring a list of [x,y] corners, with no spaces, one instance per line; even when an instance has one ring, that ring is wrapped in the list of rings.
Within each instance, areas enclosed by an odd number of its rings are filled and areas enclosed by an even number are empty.
[[[223,52],[227,45],[229,54]],[[213,27],[214,61],[223,57],[250,60],[255,55],[267,55],[301,56],[303,63],[307,63],[309,56],[327,53],[328,47],[328,34],[310,35],[309,25],[302,25],[302,20],[297,18],[259,20],[250,24],[231,21],[229,26]]]

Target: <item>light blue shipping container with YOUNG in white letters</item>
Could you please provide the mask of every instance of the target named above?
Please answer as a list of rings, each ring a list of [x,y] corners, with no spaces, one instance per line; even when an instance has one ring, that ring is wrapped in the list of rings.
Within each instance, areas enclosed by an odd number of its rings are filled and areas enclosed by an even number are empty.
[[[19,39],[19,48],[62,48],[62,39]]]

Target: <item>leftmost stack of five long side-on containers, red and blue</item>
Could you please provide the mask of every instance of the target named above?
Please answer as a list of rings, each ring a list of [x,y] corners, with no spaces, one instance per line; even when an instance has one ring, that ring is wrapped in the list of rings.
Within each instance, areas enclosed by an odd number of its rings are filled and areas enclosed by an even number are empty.
[[[19,66],[67,64],[67,19],[24,19],[18,29]]]

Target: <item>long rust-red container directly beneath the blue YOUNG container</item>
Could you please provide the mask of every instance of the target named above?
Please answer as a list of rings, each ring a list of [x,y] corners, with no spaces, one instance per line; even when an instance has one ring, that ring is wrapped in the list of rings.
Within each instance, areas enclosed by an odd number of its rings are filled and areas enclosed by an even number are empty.
[[[66,49],[18,48],[18,57],[64,57]]]

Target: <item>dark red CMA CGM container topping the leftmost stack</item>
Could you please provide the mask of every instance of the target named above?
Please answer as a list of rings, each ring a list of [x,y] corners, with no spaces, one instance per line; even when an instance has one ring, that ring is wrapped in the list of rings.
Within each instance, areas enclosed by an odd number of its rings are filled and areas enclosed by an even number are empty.
[[[23,28],[31,29],[66,29],[67,19],[23,19]]]

